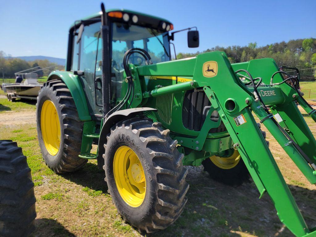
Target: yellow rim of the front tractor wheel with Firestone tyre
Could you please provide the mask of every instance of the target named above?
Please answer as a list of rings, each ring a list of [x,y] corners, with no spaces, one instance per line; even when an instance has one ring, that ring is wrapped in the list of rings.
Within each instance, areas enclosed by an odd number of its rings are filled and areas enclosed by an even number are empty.
[[[145,198],[146,180],[143,166],[128,146],[116,150],[113,161],[113,174],[119,194],[132,207],[140,206]]]

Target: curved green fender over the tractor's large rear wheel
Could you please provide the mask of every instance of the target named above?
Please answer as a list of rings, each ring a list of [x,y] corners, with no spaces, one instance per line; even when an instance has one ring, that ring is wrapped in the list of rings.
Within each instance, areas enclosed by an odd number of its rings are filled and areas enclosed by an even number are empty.
[[[84,93],[79,76],[74,75],[69,71],[53,71],[49,74],[47,81],[54,79],[62,80],[70,90],[70,94],[75,101],[80,120],[91,120],[86,95]]]

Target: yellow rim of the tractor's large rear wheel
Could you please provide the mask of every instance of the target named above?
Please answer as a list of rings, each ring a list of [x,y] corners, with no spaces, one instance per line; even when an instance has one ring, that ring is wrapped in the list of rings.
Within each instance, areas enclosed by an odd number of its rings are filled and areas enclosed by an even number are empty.
[[[56,107],[51,100],[45,100],[43,103],[40,124],[48,153],[56,155],[60,146],[60,125]]]

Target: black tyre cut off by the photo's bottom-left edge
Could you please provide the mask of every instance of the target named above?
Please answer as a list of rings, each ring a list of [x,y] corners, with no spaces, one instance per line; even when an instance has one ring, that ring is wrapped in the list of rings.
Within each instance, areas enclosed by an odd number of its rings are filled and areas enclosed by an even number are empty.
[[[35,229],[35,196],[31,169],[22,149],[0,141],[0,236],[29,236]]]

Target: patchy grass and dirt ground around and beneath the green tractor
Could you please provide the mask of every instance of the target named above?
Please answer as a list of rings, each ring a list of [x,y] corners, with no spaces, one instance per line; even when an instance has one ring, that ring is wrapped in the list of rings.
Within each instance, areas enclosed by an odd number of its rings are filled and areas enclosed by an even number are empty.
[[[316,134],[315,123],[304,115]],[[0,131],[0,139],[12,139],[23,148],[32,170],[37,199],[34,236],[140,236],[119,216],[107,193],[104,171],[97,169],[96,161],[88,161],[71,174],[57,175],[47,168],[37,139],[35,101],[0,98]],[[315,186],[309,184],[269,132],[267,140],[307,223],[315,226]],[[253,182],[240,187],[223,185],[210,179],[201,167],[189,168],[187,182],[188,202],[179,219],[166,230],[147,236],[293,236],[283,228],[270,197],[258,199]]]

